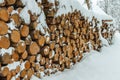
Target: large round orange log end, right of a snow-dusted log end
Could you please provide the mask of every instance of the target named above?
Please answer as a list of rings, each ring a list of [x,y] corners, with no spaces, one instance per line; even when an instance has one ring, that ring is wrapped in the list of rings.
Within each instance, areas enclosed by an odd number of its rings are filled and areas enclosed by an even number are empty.
[[[29,46],[29,52],[31,55],[36,55],[40,51],[40,47],[36,42],[32,42]]]

